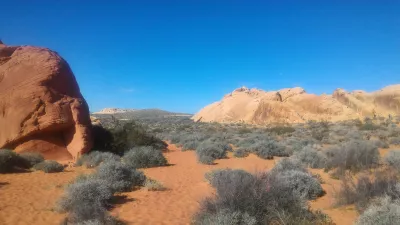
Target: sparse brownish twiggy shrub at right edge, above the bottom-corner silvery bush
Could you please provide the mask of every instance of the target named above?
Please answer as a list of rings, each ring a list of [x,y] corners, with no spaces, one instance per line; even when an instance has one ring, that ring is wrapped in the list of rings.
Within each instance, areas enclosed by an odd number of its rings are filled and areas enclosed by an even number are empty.
[[[336,193],[336,204],[355,204],[358,211],[363,211],[371,199],[388,195],[393,199],[400,198],[400,183],[395,173],[391,171],[377,171],[352,177],[346,174],[342,178],[340,190]]]

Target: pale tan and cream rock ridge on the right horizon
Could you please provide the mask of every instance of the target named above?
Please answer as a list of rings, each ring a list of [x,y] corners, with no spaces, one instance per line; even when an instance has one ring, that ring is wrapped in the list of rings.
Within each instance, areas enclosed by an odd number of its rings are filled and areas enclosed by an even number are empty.
[[[193,120],[203,122],[245,122],[253,124],[301,123],[308,120],[340,121],[366,116],[400,114],[400,85],[382,90],[332,95],[308,94],[303,88],[263,91],[241,87],[206,106]]]

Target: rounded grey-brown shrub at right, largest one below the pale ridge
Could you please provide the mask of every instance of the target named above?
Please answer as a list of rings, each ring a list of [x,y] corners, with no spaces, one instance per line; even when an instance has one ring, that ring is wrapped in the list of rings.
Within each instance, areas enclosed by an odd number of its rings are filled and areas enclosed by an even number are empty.
[[[325,151],[326,168],[359,171],[378,165],[380,156],[378,148],[369,141],[349,141]]]

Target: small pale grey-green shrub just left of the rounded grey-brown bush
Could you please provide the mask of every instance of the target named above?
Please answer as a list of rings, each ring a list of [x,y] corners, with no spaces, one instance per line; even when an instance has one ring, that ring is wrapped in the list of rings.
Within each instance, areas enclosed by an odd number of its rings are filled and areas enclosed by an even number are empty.
[[[324,168],[326,164],[325,154],[309,146],[295,152],[294,157],[311,168]]]

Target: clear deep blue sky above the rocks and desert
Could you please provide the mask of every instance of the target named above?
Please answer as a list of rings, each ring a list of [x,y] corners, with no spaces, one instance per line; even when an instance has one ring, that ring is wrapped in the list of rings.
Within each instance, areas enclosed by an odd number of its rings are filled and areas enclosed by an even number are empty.
[[[1,0],[0,5],[3,41],[58,51],[91,111],[194,113],[242,85],[301,86],[321,94],[400,83],[398,0]]]

